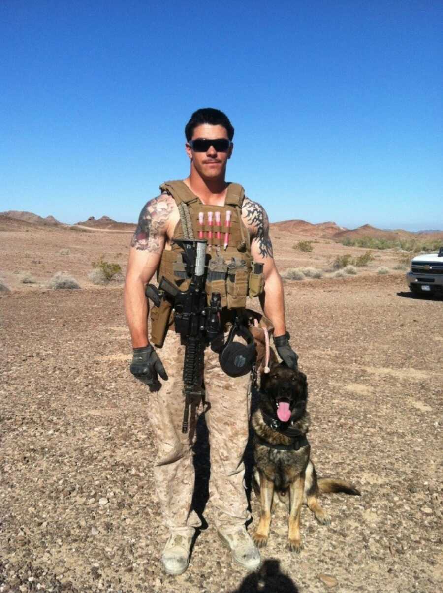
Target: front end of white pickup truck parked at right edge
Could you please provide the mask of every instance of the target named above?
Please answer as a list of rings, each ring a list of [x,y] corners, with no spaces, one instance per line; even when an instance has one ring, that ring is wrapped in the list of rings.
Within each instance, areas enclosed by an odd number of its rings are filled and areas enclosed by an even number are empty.
[[[443,297],[443,247],[438,253],[416,256],[406,274],[406,282],[416,295],[440,295]]]

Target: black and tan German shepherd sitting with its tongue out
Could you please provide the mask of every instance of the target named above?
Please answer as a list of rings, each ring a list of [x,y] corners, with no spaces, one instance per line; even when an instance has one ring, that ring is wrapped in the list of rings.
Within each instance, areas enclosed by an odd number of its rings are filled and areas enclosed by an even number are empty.
[[[343,492],[360,496],[360,492],[343,480],[317,478],[306,438],[310,422],[306,410],[306,375],[299,369],[279,364],[273,350],[270,372],[264,373],[262,331],[255,330],[253,333],[261,381],[260,404],[252,415],[255,459],[252,486],[260,498],[261,514],[252,539],[258,547],[266,546],[272,506],[280,501],[289,510],[287,547],[290,551],[299,552],[303,549],[300,536],[302,503],[314,513],[319,523],[329,524],[330,517],[319,503],[320,493]]]

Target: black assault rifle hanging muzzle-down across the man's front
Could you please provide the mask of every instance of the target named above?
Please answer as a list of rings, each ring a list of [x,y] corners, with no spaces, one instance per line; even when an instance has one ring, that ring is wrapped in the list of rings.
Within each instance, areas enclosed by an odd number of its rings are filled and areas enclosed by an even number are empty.
[[[185,411],[183,413],[182,432],[188,432],[189,404],[192,398],[200,400],[202,388],[202,368],[205,346],[210,344],[221,333],[220,311],[221,297],[213,292],[210,304],[206,304],[205,293],[205,259],[206,244],[204,240],[176,239],[174,243],[183,249],[186,264],[186,277],[190,280],[186,291],[181,291],[166,278],[160,280],[159,288],[148,284],[146,296],[156,307],[162,299],[167,299],[174,309],[174,325],[176,333],[185,344],[185,361],[183,365],[183,396]]]

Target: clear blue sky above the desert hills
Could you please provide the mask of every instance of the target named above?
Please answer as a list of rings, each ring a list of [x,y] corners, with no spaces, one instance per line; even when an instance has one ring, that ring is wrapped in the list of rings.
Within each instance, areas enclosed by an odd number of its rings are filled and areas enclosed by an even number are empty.
[[[271,221],[443,229],[443,2],[0,0],[0,211],[135,221],[198,107]]]

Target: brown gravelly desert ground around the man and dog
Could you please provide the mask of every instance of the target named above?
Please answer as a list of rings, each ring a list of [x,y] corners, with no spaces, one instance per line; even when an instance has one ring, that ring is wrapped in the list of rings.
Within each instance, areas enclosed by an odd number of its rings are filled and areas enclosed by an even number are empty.
[[[393,269],[402,254],[374,251],[344,278],[284,281],[318,473],[352,481],[362,496],[324,496],[327,527],[303,508],[300,554],[286,549],[277,508],[262,567],[248,575],[216,537],[201,417],[194,504],[205,528],[187,572],[172,577],[159,561],[150,394],[129,373],[122,283],[87,277],[102,255],[124,272],[131,234],[0,222],[0,273],[11,289],[0,293],[0,593],[443,589],[443,301],[412,298]],[[279,228],[272,238],[282,274],[366,251],[312,237],[303,253],[292,246],[306,234]],[[381,266],[388,273],[377,273]],[[80,289],[48,288],[63,270]],[[245,460],[249,486],[250,448]],[[254,493],[251,510],[250,532]]]

